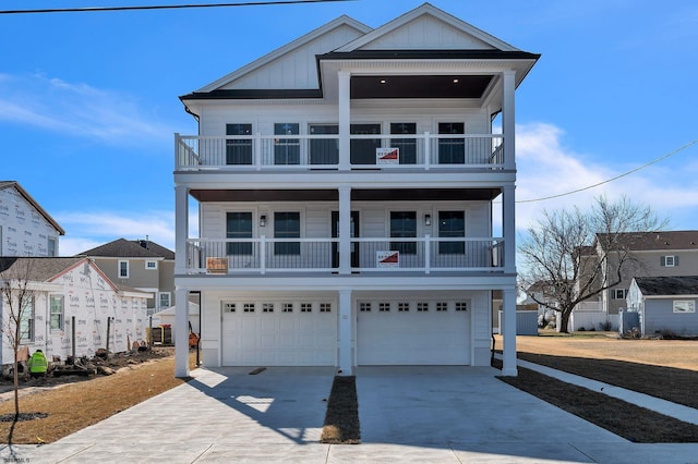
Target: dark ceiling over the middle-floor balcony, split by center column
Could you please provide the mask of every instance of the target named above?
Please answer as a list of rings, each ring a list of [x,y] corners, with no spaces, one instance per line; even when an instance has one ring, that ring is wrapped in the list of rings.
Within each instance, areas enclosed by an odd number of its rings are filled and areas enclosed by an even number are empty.
[[[492,200],[500,188],[362,188],[351,191],[352,202]],[[190,195],[207,202],[338,202],[337,190],[192,190]]]

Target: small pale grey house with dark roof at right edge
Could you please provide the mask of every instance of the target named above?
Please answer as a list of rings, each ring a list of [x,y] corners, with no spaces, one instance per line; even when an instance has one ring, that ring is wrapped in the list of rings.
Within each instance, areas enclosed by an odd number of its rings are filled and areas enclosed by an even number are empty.
[[[639,315],[642,335],[698,335],[698,276],[636,277],[627,305]]]

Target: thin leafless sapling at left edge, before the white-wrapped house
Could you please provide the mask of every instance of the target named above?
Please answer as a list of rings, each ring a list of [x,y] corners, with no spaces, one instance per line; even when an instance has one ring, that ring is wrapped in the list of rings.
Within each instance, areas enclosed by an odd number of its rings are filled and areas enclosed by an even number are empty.
[[[0,258],[0,304],[2,325],[0,329],[14,353],[14,417],[20,417],[20,375],[17,353],[22,341],[32,337],[31,318],[34,312],[34,290],[32,282],[32,258]]]

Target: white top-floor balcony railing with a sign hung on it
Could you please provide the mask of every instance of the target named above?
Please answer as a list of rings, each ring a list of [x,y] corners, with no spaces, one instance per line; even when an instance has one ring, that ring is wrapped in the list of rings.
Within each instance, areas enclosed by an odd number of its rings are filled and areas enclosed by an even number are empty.
[[[176,134],[179,170],[339,169],[339,135],[184,136]],[[282,138],[284,137],[284,138]],[[287,138],[288,137],[288,138]],[[292,137],[292,138],[290,138]],[[504,169],[502,135],[430,133],[351,135],[351,169]]]

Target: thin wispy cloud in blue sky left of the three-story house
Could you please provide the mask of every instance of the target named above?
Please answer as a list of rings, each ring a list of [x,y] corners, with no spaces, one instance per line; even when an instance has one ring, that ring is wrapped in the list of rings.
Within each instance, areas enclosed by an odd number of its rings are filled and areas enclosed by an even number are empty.
[[[176,132],[131,95],[40,74],[0,75],[0,121],[111,145],[163,143]]]

